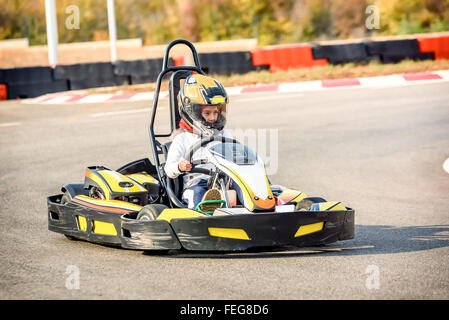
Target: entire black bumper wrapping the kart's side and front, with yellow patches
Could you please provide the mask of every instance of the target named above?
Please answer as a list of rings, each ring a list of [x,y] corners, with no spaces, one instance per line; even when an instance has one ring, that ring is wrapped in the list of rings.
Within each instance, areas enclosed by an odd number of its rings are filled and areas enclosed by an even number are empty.
[[[187,249],[233,251],[254,247],[307,247],[354,238],[354,210],[235,214],[188,219],[142,221],[137,212],[111,214],[73,202],[62,195],[47,198],[48,229],[91,242],[136,250]],[[78,216],[86,226],[80,229]],[[95,221],[114,226],[116,235],[96,233]],[[307,229],[310,226],[319,228]],[[299,232],[305,228],[310,232]]]

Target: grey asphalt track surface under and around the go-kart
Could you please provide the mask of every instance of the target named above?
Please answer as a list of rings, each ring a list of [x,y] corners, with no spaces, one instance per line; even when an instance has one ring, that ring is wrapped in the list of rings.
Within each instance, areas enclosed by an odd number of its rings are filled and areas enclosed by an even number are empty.
[[[231,97],[229,128],[277,133],[272,183],[354,208],[353,240],[151,256],[49,232],[48,195],[148,156],[150,106],[0,104],[0,299],[449,298],[448,82]]]

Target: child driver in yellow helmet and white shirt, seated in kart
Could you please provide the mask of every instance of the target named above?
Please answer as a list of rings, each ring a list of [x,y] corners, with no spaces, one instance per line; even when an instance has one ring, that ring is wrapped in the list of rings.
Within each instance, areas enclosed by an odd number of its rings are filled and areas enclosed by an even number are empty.
[[[207,190],[208,175],[189,173],[192,169],[190,159],[184,159],[186,151],[202,137],[223,136],[232,138],[226,124],[227,94],[223,86],[215,79],[200,74],[189,75],[178,95],[178,106],[181,121],[181,133],[177,134],[168,151],[165,173],[174,179],[182,173],[184,188],[182,201],[188,208],[195,209],[204,200],[220,200],[218,189]],[[210,142],[216,144],[218,142]],[[196,151],[192,159],[204,159],[204,148]],[[198,167],[213,169],[213,164],[202,164]],[[233,187],[231,187],[233,188]],[[240,198],[240,197],[239,197]],[[221,203],[203,204],[204,211],[214,211]]]

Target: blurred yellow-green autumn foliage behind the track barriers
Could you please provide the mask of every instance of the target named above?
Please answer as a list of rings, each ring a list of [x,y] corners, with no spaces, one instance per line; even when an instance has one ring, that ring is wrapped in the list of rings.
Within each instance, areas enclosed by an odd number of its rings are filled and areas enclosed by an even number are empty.
[[[80,28],[66,20],[76,5]],[[368,30],[368,5],[380,28]],[[56,0],[60,43],[108,39],[106,0]],[[449,0],[115,0],[118,39],[145,45],[257,38],[259,45],[449,30]],[[46,44],[45,0],[0,0],[0,40]]]

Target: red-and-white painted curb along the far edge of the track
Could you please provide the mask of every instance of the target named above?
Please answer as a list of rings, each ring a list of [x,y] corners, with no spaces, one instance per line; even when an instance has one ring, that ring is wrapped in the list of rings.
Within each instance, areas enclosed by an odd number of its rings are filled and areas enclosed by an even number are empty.
[[[441,70],[426,73],[414,73],[403,75],[387,75],[369,78],[316,80],[302,82],[288,82],[281,84],[263,84],[244,87],[228,87],[227,93],[239,95],[244,93],[263,92],[307,92],[342,88],[386,88],[400,87],[422,83],[435,83],[449,81],[449,70]],[[159,99],[168,97],[168,92],[160,92]],[[46,94],[37,98],[21,100],[27,104],[80,104],[80,103],[105,103],[123,101],[149,101],[153,100],[153,92],[140,93],[87,93],[59,92]]]

